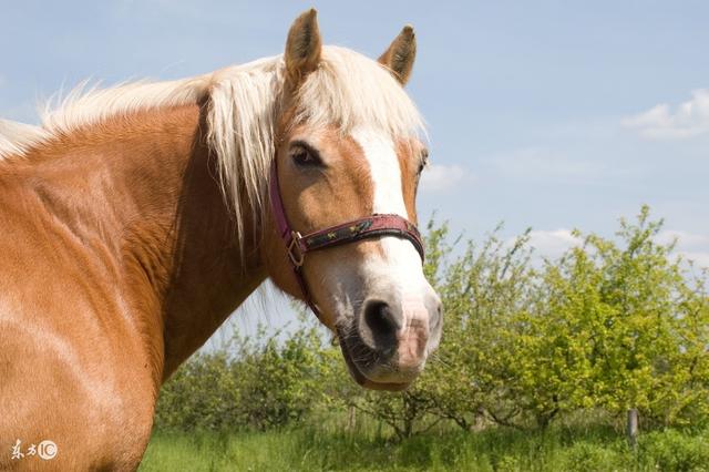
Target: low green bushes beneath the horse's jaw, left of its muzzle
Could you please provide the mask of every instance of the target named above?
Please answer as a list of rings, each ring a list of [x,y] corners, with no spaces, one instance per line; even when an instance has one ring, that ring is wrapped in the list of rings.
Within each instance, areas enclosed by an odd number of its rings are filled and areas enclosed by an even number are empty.
[[[223,349],[196,355],[161,390],[156,427],[264,430],[327,402],[337,352],[312,324],[281,336],[259,327],[256,337],[235,335]]]

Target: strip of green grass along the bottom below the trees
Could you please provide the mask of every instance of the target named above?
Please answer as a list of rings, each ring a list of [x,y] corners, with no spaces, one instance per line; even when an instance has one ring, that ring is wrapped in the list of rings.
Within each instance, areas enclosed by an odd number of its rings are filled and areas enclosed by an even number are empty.
[[[401,442],[315,428],[153,435],[148,471],[709,471],[709,430],[656,431],[636,452],[608,428],[439,431]]]

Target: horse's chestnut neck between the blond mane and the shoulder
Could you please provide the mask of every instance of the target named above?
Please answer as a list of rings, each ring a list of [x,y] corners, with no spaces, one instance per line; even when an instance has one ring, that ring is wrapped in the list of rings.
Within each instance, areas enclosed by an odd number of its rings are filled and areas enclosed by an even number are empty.
[[[199,131],[205,126],[196,105],[145,112],[78,132],[60,158],[81,176],[74,185],[82,188],[70,186],[56,201],[94,216],[84,218],[93,227],[82,230],[99,235],[111,255],[106,264],[119,267],[156,386],[266,277],[254,237],[238,246],[216,158]],[[247,235],[255,234],[253,224],[245,222]]]

